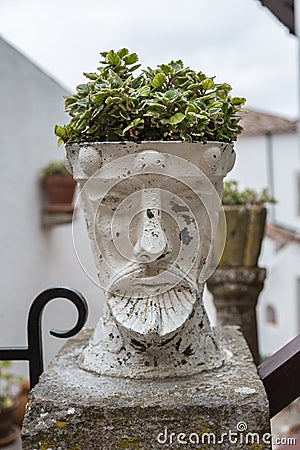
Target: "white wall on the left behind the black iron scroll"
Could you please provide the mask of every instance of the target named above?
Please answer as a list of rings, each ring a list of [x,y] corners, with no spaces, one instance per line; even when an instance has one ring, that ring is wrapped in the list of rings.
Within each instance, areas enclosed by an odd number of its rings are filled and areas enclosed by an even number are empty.
[[[0,39],[0,346],[26,344],[29,307],[49,286],[80,290],[90,306],[90,325],[100,315],[102,294],[77,261],[71,225],[48,229],[41,225],[39,174],[49,161],[64,157],[53,128],[66,122],[66,93]],[[80,214],[76,226],[82,227],[85,239]],[[89,271],[96,277],[89,244],[85,252]],[[44,314],[46,362],[63,343],[46,330],[66,329],[76,321],[71,304],[55,302]]]

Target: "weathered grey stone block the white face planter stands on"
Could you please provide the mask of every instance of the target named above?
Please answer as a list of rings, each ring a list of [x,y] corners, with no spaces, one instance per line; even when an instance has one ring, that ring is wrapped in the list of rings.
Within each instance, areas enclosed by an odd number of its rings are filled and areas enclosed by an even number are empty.
[[[248,347],[235,327],[217,334],[233,353],[223,367],[177,379],[136,380],[80,369],[77,358],[91,336],[81,332],[31,393],[23,449],[271,448],[262,441],[270,431],[268,402]],[[247,432],[257,435],[247,438]]]

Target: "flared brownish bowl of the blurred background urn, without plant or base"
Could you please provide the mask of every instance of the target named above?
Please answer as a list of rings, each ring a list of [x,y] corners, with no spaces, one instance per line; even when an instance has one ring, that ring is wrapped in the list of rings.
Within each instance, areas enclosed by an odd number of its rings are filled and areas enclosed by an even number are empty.
[[[219,266],[257,266],[265,230],[266,208],[261,205],[225,205],[224,211],[227,237]]]

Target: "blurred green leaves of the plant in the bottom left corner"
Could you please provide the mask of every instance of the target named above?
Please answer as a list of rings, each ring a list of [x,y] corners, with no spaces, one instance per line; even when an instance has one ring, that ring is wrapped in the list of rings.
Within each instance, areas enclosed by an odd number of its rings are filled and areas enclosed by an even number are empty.
[[[23,381],[22,377],[9,371],[10,366],[10,361],[0,361],[0,409],[13,405],[14,398]]]

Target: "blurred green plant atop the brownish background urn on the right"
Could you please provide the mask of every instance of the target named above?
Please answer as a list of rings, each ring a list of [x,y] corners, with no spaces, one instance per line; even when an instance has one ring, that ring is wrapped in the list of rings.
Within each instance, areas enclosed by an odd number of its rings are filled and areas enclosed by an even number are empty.
[[[222,196],[223,205],[263,205],[276,203],[274,197],[269,195],[268,189],[257,192],[254,189],[239,191],[237,181],[225,181]]]

